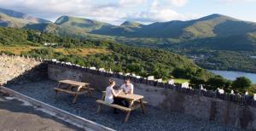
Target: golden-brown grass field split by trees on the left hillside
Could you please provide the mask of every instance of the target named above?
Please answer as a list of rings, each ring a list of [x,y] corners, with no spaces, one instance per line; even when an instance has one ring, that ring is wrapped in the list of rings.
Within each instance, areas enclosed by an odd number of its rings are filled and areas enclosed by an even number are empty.
[[[29,52],[32,49],[44,48],[44,47],[32,47],[32,46],[21,46],[21,47],[7,47],[0,46],[0,52],[9,52],[12,54],[22,54],[22,52]],[[62,54],[74,54],[79,56],[85,56],[88,54],[109,54],[110,51],[106,48],[54,48],[55,52]]]

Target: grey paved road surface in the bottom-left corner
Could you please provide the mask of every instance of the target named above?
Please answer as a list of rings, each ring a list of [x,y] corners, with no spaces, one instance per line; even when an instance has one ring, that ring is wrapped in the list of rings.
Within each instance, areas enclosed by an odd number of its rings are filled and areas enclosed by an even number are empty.
[[[1,131],[59,131],[83,130],[50,117],[32,106],[23,105],[19,100],[6,99],[0,93]]]

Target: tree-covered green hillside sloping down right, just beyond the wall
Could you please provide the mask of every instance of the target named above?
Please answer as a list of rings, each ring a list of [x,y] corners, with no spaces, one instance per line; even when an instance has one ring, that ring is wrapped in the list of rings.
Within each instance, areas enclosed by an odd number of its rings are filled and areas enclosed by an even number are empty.
[[[45,47],[44,43],[55,44]],[[0,46],[2,47],[0,50],[7,54],[17,53],[34,57],[56,58],[97,68],[109,69],[111,67],[112,71],[133,72],[143,77],[154,75],[157,78],[167,79],[172,77],[172,71],[176,69],[186,70],[183,72],[185,74],[176,77],[207,79],[211,76],[191,60],[170,51],[129,47],[108,41],[55,37],[52,34],[39,31],[2,27],[0,28]],[[26,48],[21,49],[22,47]]]

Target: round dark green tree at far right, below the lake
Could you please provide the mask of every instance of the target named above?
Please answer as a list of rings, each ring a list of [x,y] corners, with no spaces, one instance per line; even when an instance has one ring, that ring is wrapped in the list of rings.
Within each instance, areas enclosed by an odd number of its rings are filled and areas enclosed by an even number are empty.
[[[244,94],[247,91],[247,88],[250,88],[251,86],[252,82],[247,77],[236,77],[236,80],[232,83],[232,89],[240,94]]]

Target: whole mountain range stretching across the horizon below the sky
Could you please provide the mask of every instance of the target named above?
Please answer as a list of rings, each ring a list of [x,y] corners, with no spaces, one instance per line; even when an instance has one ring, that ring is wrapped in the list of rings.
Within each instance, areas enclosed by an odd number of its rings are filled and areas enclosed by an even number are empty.
[[[119,43],[159,48],[256,49],[256,23],[222,14],[211,14],[197,20],[172,20],[149,25],[125,21],[119,26],[113,26],[73,16],[61,16],[51,22],[14,10],[0,9],[0,26],[44,31],[59,36],[107,37]]]

